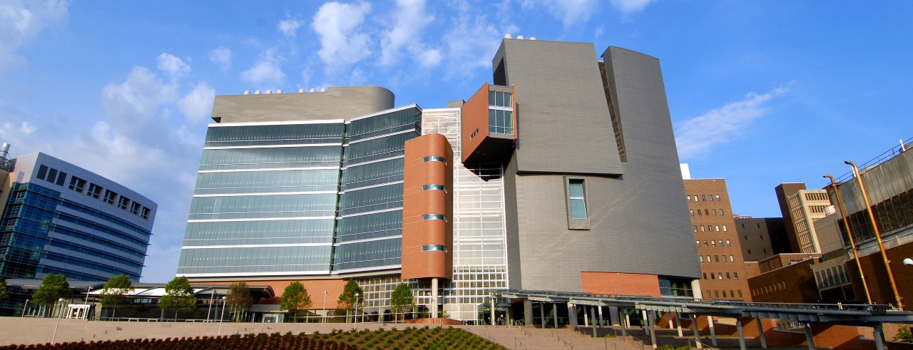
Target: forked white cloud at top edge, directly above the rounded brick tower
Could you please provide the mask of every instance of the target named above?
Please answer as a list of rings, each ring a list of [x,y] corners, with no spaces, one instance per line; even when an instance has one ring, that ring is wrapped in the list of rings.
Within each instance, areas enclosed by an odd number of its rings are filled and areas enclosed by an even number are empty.
[[[440,50],[425,48],[422,34],[435,16],[425,12],[425,0],[397,0],[394,26],[381,39],[381,66],[393,66],[399,61],[403,46],[422,67],[435,67],[441,61]]]

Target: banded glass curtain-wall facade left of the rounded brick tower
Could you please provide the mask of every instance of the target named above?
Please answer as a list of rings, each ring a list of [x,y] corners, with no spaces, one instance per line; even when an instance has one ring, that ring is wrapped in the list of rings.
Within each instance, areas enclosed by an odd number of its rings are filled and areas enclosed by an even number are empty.
[[[415,105],[352,118],[211,124],[178,274],[398,269]]]

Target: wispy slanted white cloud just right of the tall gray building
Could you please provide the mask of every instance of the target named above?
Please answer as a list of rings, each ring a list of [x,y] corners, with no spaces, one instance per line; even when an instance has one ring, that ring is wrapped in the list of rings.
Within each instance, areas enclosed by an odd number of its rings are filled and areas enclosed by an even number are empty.
[[[770,108],[764,106],[766,102],[789,89],[788,86],[774,88],[761,95],[750,92],[740,101],[680,123],[676,128],[678,156],[682,159],[694,157],[739,138],[754,119],[761,118],[770,111]]]

